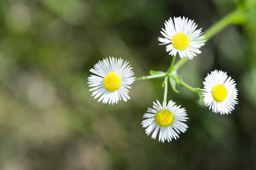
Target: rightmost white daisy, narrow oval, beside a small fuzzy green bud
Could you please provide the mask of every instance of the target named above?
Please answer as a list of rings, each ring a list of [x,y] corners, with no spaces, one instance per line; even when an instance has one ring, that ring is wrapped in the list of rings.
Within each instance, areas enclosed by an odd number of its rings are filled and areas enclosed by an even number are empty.
[[[231,113],[238,104],[236,83],[226,72],[214,70],[204,78],[204,102],[209,109],[220,114]]]

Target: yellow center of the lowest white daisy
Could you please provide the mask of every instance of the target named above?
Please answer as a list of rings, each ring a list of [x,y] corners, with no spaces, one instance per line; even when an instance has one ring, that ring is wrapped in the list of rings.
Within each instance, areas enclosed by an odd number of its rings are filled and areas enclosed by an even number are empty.
[[[156,122],[161,126],[171,125],[173,123],[173,119],[173,113],[167,109],[160,110],[155,116]]]

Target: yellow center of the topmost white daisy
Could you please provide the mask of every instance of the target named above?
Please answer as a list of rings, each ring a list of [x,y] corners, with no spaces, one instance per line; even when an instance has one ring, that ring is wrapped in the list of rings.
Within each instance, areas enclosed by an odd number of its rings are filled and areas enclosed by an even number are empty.
[[[172,37],[172,43],[177,50],[185,50],[190,44],[190,38],[184,32],[177,32]]]

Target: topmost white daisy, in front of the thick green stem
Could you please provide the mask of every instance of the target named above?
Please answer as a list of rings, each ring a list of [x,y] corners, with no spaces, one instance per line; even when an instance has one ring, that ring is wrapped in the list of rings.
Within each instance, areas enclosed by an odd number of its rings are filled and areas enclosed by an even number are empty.
[[[161,31],[161,33],[165,38],[158,37],[158,40],[162,42],[159,45],[169,44],[166,46],[166,51],[170,51],[169,55],[176,55],[178,52],[180,58],[188,56],[189,59],[193,59],[196,56],[195,53],[201,53],[198,48],[204,45],[202,39],[205,36],[199,36],[203,34],[202,28],[196,30],[197,25],[194,20],[174,17],[173,20],[170,18],[165,21],[164,26],[165,29],[162,28],[163,32]]]

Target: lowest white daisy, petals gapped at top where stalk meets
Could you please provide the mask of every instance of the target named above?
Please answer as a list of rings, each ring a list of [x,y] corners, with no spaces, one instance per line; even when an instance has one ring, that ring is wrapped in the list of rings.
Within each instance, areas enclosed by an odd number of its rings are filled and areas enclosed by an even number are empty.
[[[147,135],[154,130],[151,136],[153,139],[156,139],[159,129],[159,141],[164,142],[164,140],[167,140],[169,142],[172,141],[172,138],[179,138],[179,131],[184,133],[188,128],[185,123],[181,122],[188,119],[188,117],[185,117],[187,116],[186,110],[175,105],[173,101],[169,101],[168,105],[166,105],[166,102],[161,105],[157,100],[157,103],[153,102],[153,109],[148,108],[148,112],[143,115],[143,118],[148,119],[143,120],[141,124],[143,125],[142,127],[148,126],[145,130]]]

